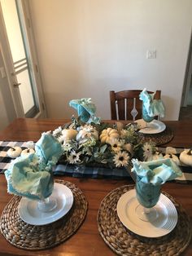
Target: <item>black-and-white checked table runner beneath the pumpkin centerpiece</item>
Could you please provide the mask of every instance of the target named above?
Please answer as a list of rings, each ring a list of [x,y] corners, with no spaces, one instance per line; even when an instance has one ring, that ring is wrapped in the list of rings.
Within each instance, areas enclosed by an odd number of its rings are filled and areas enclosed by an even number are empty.
[[[28,148],[26,142],[0,141],[0,174],[7,170],[11,163],[11,158],[7,156],[7,151],[11,147],[18,146],[22,149]],[[177,157],[184,148],[176,148]],[[162,153],[165,148],[159,148]],[[176,179],[180,183],[192,183],[192,166],[180,166],[183,175]],[[72,166],[58,164],[55,166],[54,173],[57,175],[72,176],[76,178],[95,178],[95,179],[130,179],[130,174],[125,169],[109,169],[103,167]]]

